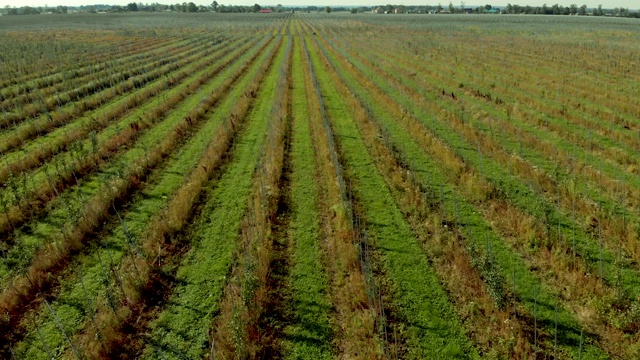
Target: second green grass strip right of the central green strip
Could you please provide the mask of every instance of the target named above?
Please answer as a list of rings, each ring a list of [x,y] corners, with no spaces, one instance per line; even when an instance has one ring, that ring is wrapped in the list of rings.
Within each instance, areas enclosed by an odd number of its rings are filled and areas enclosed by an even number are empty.
[[[353,81],[353,80],[351,80]],[[364,88],[354,89],[354,93],[361,97],[366,97]],[[370,91],[367,89],[366,91]],[[506,296],[506,280],[509,277],[516,279],[514,287],[515,295],[522,299],[521,301],[526,304],[526,310],[533,314],[537,321],[541,323],[549,324],[548,333],[553,332],[553,327],[558,324],[564,329],[563,332],[558,334],[559,346],[564,344],[579,342],[580,330],[576,325],[575,320],[560,309],[558,312],[554,306],[557,300],[552,300],[551,295],[542,290],[540,284],[535,278],[531,277],[526,271],[524,264],[520,259],[514,257],[509,253],[509,250],[504,248],[505,242],[499,239],[499,236],[491,231],[490,224],[487,224],[481,216],[478,216],[480,211],[474,208],[471,201],[462,196],[455,188],[448,184],[455,184],[455,179],[446,178],[441,172],[443,165],[435,163],[432,158],[426,156],[424,150],[421,149],[416,142],[411,138],[411,131],[406,128],[401,128],[393,121],[390,121],[390,117],[383,117],[385,109],[376,104],[367,104],[371,106],[373,114],[376,117],[381,118],[381,128],[383,128],[388,136],[388,141],[391,144],[398,144],[399,149],[397,156],[406,162],[406,165],[411,171],[418,174],[417,182],[421,183],[424,188],[437,189],[441,192],[440,204],[443,211],[448,215],[449,221],[454,224],[463,221],[464,227],[461,228],[461,232],[465,237],[467,246],[471,249],[471,252],[479,252],[480,254],[473,254],[472,259],[478,262],[476,267],[480,267],[481,273],[487,283],[488,291],[493,294],[494,300],[499,303],[499,306],[504,306],[501,303],[505,302]],[[446,135],[455,135],[455,133],[447,132]],[[447,139],[447,137],[442,137]],[[401,145],[400,145],[401,144]],[[471,152],[473,153],[473,149]],[[467,155],[468,156],[468,155]],[[487,166],[488,160],[484,159],[484,166]],[[471,162],[472,163],[472,162]],[[472,163],[473,164],[473,163]],[[464,220],[462,220],[464,219]],[[481,255],[482,254],[482,255]],[[527,300],[531,299],[531,301]],[[546,310],[545,310],[546,309]],[[558,318],[557,322],[555,317]],[[538,329],[541,331],[542,329]],[[571,337],[571,338],[569,338]],[[548,346],[553,348],[553,344]],[[571,348],[571,347],[570,347]],[[575,351],[576,349],[573,349]],[[598,354],[590,354],[594,351],[585,346],[583,356],[588,358],[598,358]]]

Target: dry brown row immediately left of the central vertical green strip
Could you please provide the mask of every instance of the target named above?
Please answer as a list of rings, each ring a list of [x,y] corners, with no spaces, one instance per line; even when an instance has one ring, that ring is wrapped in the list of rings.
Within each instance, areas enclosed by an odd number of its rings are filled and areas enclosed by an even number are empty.
[[[291,40],[289,40],[291,41]],[[291,46],[292,44],[289,43]],[[214,358],[263,358],[278,352],[273,331],[262,320],[273,304],[279,289],[273,274],[276,257],[277,205],[280,201],[287,128],[290,126],[291,51],[285,55],[284,71],[278,79],[267,130],[268,138],[261,150],[261,159],[254,173],[253,190],[245,210],[240,245],[234,255],[236,266],[225,288],[220,314],[212,327]],[[264,69],[267,72],[268,69]],[[256,89],[257,90],[257,89]],[[286,266],[285,264],[281,264]],[[269,354],[269,355],[268,355]]]

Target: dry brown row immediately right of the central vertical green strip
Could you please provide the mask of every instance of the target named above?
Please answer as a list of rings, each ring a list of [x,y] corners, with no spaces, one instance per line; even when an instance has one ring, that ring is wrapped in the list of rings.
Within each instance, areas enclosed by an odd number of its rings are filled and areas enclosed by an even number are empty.
[[[307,34],[312,30],[306,28]],[[303,46],[307,46],[304,43]],[[304,66],[309,64],[306,62]],[[356,233],[347,214],[348,206],[342,202],[338,184],[338,169],[334,168],[328,134],[320,117],[320,104],[315,96],[313,81],[305,73],[307,106],[313,138],[319,214],[321,216],[323,263],[330,282],[331,299],[335,307],[333,318],[335,347],[345,359],[376,359],[383,356],[376,332],[376,310],[369,307],[365,278],[360,266]]]

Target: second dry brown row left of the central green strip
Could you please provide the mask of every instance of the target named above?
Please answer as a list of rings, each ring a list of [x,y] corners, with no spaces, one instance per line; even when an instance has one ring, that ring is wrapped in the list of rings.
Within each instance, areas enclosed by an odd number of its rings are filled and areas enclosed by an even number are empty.
[[[247,71],[258,54],[268,45],[269,43],[265,43],[250,61],[240,67],[233,76],[225,81],[223,86],[210,95],[207,99],[208,107],[217,103],[228,91],[229,87]],[[277,48],[278,46],[274,49]],[[204,184],[216,174],[226,160],[231,142],[241,129],[246,113],[253,103],[256,91],[262,80],[261,76],[266,72],[266,67],[270,65],[275,53],[275,50],[273,50],[271,57],[261,68],[261,70],[265,71],[258,73],[259,77],[249,85],[243,97],[237,101],[225,123],[218,128],[197,167],[189,175],[189,179],[173,196],[167,208],[149,225],[148,231],[142,240],[142,247],[146,254],[145,259],[130,255],[123,260],[122,267],[124,270],[122,277],[125,284],[125,297],[128,301],[121,303],[116,312],[113,312],[105,304],[97,307],[96,313],[101,319],[104,319],[104,326],[101,329],[102,338],[96,338],[94,331],[90,328],[90,324],[87,323],[83,332],[76,339],[76,342],[81,344],[81,348],[86,349],[84,354],[87,358],[109,358],[111,351],[114,349],[120,349],[124,354],[135,354],[139,347],[143,345],[140,342],[128,341],[124,330],[133,331],[132,329],[143,328],[147,325],[154,309],[146,307],[146,304],[153,301],[162,303],[163,301],[162,296],[158,299],[157,296],[155,298],[153,296],[148,297],[149,294],[156,293],[158,288],[166,290],[166,293],[169,292],[171,284],[160,276],[158,270],[161,264],[176,261],[177,259],[173,259],[172,256],[179,255],[185,250],[185,244],[181,244],[178,241],[177,235],[184,230],[188,220],[192,217],[196,202],[204,191]],[[201,121],[205,118],[205,114],[206,112],[202,109],[195,109],[188,117],[193,122]],[[136,264],[135,267],[133,266],[134,263]],[[116,313],[124,315],[116,316]]]

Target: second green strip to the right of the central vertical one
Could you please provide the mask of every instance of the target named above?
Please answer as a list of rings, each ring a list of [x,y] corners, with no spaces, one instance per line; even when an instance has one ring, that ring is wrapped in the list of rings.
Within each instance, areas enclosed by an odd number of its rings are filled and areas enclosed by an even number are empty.
[[[348,74],[345,73],[345,75]],[[349,77],[347,76],[347,78]],[[353,87],[355,80],[351,79],[349,83]],[[366,89],[354,88],[353,90],[362,98],[367,97]],[[479,249],[480,252],[485,252],[486,244],[489,243],[491,253],[500,265],[502,276],[506,279],[512,279],[513,275],[515,275],[515,291],[518,298],[530,314],[533,315],[535,313],[538,328],[540,330],[545,329],[544,331],[547,334],[546,341],[551,343],[548,344],[548,348],[553,348],[555,306],[558,304],[558,299],[549,290],[545,289],[540,280],[527,269],[519,255],[512,252],[500,236],[492,230],[491,225],[482,217],[482,212],[458,192],[456,187],[451,184],[441,164],[438,164],[416,144],[410,132],[393,121],[382,106],[374,104],[374,102],[370,102],[368,105],[371,106],[373,113],[376,114],[376,118],[384,124],[393,142],[400,145],[399,151],[404,158],[410,159],[413,170],[419,174],[419,181],[429,188],[441,189],[441,201],[444,203],[447,214],[459,220],[461,224],[460,230],[465,234],[467,244]],[[447,134],[443,131],[439,132],[438,135],[446,142],[449,142],[451,137],[459,136],[450,130]],[[452,145],[456,149],[460,146],[462,145],[456,143]],[[469,151],[473,154],[473,147],[470,147]],[[471,154],[465,154],[464,159],[470,160],[471,165],[477,165],[472,161],[474,158]],[[490,159],[485,158],[483,160],[483,165],[487,166]],[[581,356],[583,359],[607,358],[599,348],[590,343],[592,340],[587,335],[584,335],[584,344],[582,344],[583,348],[580,351],[581,327],[569,311],[561,307],[558,308],[558,329],[558,346],[571,354],[572,357],[578,358]],[[581,354],[579,354],[580,352]]]

